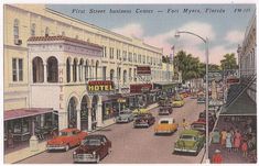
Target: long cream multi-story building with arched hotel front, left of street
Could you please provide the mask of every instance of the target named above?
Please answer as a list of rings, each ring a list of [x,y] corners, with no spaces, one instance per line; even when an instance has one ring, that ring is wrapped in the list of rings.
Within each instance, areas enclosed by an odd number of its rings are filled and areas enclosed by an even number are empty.
[[[60,129],[72,125],[91,130],[94,122],[101,125],[114,115],[111,110],[117,109],[118,98],[126,98],[128,106],[132,102],[138,106],[137,99],[143,95],[129,93],[131,85],[138,85],[141,92],[147,84],[172,80],[172,64],[163,67],[162,54],[162,48],[139,38],[88,24],[42,4],[6,4],[6,131],[30,131],[32,121],[39,120],[36,125],[44,126],[48,118],[58,119]],[[150,66],[151,76],[140,77],[138,66]],[[112,80],[116,95],[88,93],[89,80]],[[149,90],[150,95],[158,92]],[[47,114],[50,108],[54,118]]]

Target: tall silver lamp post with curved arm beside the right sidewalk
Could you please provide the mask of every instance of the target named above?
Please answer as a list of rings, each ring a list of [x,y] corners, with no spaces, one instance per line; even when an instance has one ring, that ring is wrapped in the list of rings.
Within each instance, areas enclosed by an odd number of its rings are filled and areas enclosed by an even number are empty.
[[[206,56],[206,147],[205,147],[205,157],[208,161],[208,38],[204,38],[193,32],[188,32],[188,31],[176,31],[175,33],[175,37],[180,37],[181,33],[186,33],[186,34],[191,34],[194,35],[198,38],[201,38],[204,44],[205,44],[205,56]]]

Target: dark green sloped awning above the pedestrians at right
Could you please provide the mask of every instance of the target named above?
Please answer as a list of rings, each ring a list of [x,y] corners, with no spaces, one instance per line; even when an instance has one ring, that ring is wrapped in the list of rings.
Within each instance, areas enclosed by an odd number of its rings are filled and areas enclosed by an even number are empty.
[[[228,108],[223,108],[220,115],[257,115],[257,104],[244,92]]]

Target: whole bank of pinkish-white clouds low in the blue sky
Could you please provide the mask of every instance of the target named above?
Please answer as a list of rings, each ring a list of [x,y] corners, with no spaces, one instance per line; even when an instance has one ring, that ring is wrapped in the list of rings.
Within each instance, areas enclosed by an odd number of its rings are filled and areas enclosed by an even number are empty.
[[[195,57],[198,57],[201,62],[205,62],[205,46],[202,40],[188,34],[181,34],[180,38],[175,38],[175,32],[177,30],[188,31],[192,30],[193,33],[201,35],[202,37],[208,37],[209,43],[212,43],[216,33],[213,30],[213,26],[204,22],[188,22],[179,26],[177,29],[172,29],[168,32],[160,33],[153,36],[143,36],[144,30],[141,24],[131,23],[122,27],[114,29],[114,32],[120,33],[122,35],[136,36],[143,38],[144,43],[153,45],[155,47],[163,47],[163,54],[170,55],[172,45],[175,45],[175,52],[180,49],[186,51],[187,54],[192,54]],[[229,31],[225,37],[228,41],[228,44],[237,43],[242,40],[242,34],[240,31]],[[209,45],[209,64],[220,65],[220,59],[227,53],[235,53],[236,48],[227,47],[226,43],[223,45],[212,46]]]

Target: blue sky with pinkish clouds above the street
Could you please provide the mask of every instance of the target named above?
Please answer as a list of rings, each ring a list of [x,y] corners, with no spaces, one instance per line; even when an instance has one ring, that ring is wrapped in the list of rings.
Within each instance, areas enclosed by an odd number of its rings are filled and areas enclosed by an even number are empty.
[[[170,47],[175,45],[175,52],[184,49],[203,62],[204,44],[201,40],[187,34],[182,34],[177,40],[174,37],[176,30],[194,32],[208,37],[209,62],[214,64],[219,64],[224,54],[236,53],[237,45],[241,44],[246,27],[256,10],[256,4],[51,4],[47,7],[97,26],[142,38],[148,44],[163,47],[165,55],[170,54]],[[85,12],[73,13],[73,9]],[[89,13],[90,9],[105,10],[105,13]],[[131,13],[109,13],[110,9],[131,10]],[[136,13],[137,9],[153,10],[153,12]],[[168,12],[169,9],[177,12]],[[183,12],[184,9],[199,10],[199,12],[188,14]],[[209,9],[225,10],[225,12],[209,12]],[[237,12],[237,9],[240,11]]]

